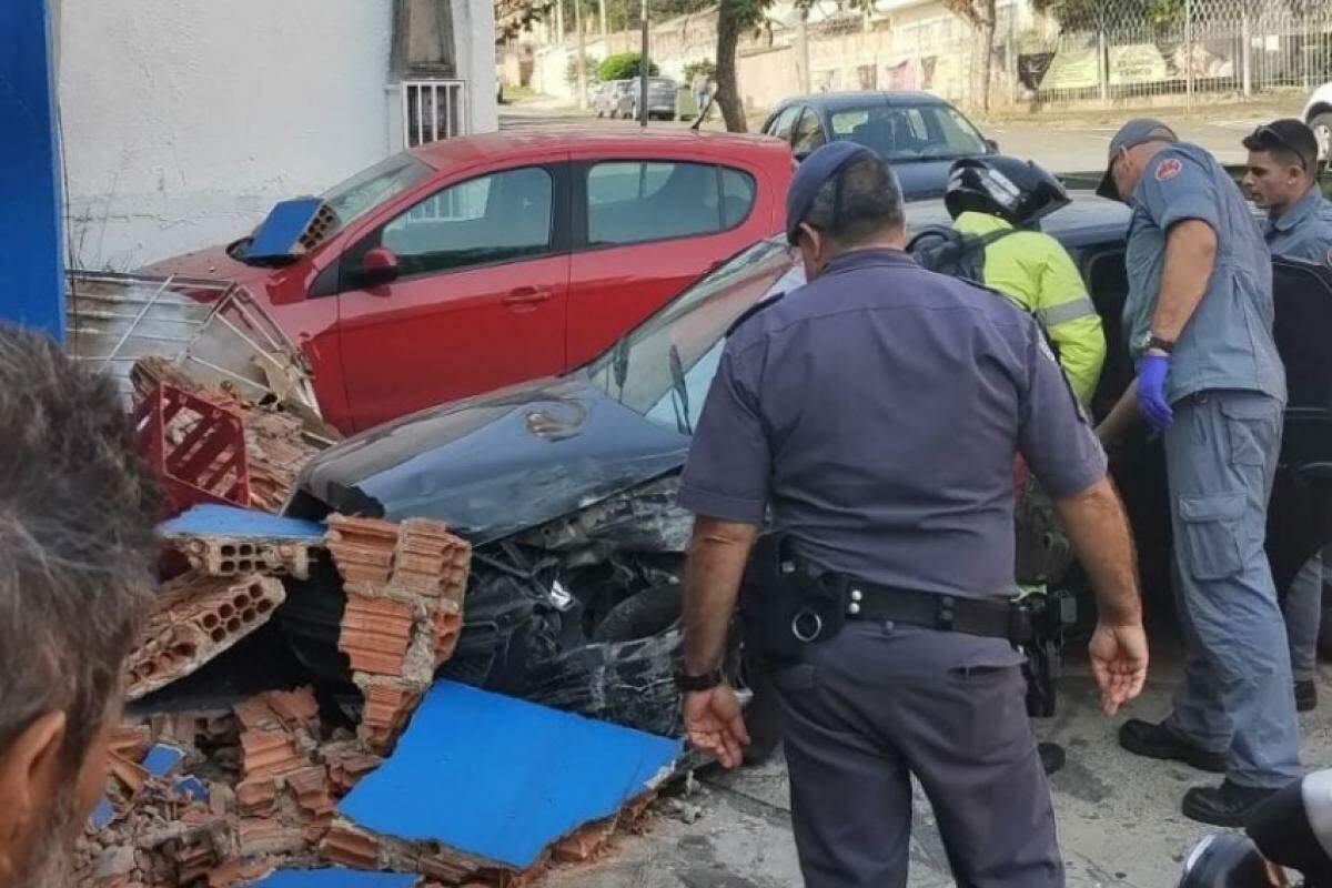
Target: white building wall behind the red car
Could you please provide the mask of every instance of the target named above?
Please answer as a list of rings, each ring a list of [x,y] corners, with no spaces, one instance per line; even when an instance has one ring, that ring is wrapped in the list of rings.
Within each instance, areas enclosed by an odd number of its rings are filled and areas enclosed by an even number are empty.
[[[454,9],[473,132],[494,129],[490,0]],[[274,201],[401,148],[393,0],[61,0],[60,13],[79,266],[240,237]]]

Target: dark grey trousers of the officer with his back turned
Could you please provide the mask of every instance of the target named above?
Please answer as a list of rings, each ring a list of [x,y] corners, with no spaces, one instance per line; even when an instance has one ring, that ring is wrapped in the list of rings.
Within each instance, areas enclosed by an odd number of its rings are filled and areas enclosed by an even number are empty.
[[[1064,884],[1020,658],[1007,643],[852,623],[814,647],[773,674],[807,888],[907,884],[912,774],[959,885]]]

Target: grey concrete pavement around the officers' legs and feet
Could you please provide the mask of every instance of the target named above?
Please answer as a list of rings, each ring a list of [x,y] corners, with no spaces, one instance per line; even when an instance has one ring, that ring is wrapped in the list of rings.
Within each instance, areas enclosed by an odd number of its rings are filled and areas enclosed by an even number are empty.
[[[1138,759],[1115,744],[1127,718],[1155,719],[1169,707],[1179,670],[1176,646],[1156,646],[1143,699],[1115,719],[1095,708],[1086,664],[1062,683],[1060,714],[1038,724],[1062,743],[1068,766],[1052,779],[1070,888],[1173,888],[1184,855],[1215,832],[1179,813],[1184,791],[1212,775],[1180,764]],[[1304,764],[1332,767],[1332,667],[1323,666],[1323,708],[1301,718]],[[591,868],[559,869],[547,888],[791,888],[799,885],[781,763],[737,774],[699,775],[701,791],[658,803],[647,831],[615,840]],[[697,807],[699,811],[693,811]],[[693,815],[698,820],[683,820]],[[951,885],[928,803],[916,799],[911,888]]]

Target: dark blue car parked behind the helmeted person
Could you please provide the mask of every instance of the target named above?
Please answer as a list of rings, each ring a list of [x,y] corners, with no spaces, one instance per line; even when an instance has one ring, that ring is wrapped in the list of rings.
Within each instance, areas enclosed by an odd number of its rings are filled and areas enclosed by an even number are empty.
[[[960,111],[920,92],[787,99],[767,116],[762,132],[790,142],[797,160],[830,141],[867,145],[892,162],[907,200],[943,194],[948,168],[959,157],[999,150]]]

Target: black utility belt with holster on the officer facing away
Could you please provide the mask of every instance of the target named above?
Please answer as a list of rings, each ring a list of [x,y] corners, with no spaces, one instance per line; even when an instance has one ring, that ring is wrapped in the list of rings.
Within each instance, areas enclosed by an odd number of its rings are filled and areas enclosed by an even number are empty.
[[[741,607],[749,643],[765,658],[782,660],[798,659],[807,646],[835,638],[847,620],[892,622],[1028,644],[1036,638],[1042,604],[895,588],[819,570],[791,555],[786,537],[773,533],[755,546]]]

